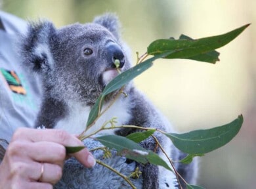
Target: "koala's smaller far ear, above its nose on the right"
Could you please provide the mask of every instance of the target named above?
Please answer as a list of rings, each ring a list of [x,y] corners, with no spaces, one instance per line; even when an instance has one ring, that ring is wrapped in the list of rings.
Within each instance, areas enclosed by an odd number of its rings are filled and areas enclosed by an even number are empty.
[[[100,24],[101,26],[104,26],[107,28],[113,35],[119,39],[119,28],[120,23],[119,19],[116,14],[114,13],[106,13],[102,16],[96,16],[95,20],[93,20],[94,23]]]

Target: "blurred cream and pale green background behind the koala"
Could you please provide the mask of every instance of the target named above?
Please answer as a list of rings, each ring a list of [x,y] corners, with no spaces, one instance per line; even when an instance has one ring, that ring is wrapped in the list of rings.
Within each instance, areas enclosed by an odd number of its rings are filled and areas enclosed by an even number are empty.
[[[93,1],[3,0],[3,11],[26,20],[48,18],[57,27],[90,22],[116,12],[123,40],[146,52],[154,39],[219,35],[252,23],[237,39],[219,49],[221,62],[157,61],[135,83],[180,132],[215,127],[244,115],[242,131],[232,142],[200,158],[199,184],[205,188],[255,188],[256,175],[256,1]]]

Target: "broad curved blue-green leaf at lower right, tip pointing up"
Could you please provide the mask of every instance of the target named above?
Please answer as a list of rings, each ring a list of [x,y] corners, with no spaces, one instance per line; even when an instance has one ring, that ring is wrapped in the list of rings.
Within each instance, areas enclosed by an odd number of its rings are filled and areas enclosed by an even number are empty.
[[[220,127],[183,134],[165,133],[165,135],[182,152],[187,154],[206,154],[230,142],[240,131],[243,120],[241,115],[231,123]]]

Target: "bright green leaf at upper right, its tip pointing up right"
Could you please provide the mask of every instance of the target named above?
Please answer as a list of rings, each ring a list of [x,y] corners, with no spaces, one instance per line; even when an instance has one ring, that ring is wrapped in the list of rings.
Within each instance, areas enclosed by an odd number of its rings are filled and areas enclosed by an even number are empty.
[[[224,33],[223,35],[204,37],[201,39],[158,39],[148,46],[148,54],[156,55],[169,52],[171,54],[165,56],[165,58],[186,58],[205,61],[208,60],[205,58],[205,55],[203,58],[200,58],[197,55],[209,53],[215,49],[223,47],[242,33],[242,31],[244,31],[248,26],[249,24],[246,24],[241,28]],[[209,55],[212,56],[214,54],[211,53],[207,56]]]

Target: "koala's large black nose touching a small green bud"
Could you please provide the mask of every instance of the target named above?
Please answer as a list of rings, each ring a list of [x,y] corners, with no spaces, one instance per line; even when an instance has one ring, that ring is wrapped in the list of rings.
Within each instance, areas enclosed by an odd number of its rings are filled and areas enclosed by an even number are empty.
[[[125,65],[125,56],[123,55],[121,48],[116,43],[110,43],[107,45],[107,53],[108,62],[111,63],[111,68],[116,68],[116,65],[114,64],[116,59],[120,62],[119,68],[123,68]]]

